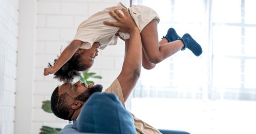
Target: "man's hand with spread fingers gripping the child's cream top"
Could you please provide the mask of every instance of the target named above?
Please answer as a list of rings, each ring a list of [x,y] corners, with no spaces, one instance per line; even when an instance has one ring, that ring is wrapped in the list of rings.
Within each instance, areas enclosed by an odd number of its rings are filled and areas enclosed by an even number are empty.
[[[135,22],[129,15],[129,13],[126,11],[126,9],[122,9],[124,15],[121,14],[118,10],[109,11],[109,14],[117,20],[117,22],[109,22],[109,21],[103,21],[103,24],[106,24],[107,26],[113,26],[120,28],[119,31],[121,32],[127,32],[130,33],[131,31],[137,30],[138,27],[136,26]]]

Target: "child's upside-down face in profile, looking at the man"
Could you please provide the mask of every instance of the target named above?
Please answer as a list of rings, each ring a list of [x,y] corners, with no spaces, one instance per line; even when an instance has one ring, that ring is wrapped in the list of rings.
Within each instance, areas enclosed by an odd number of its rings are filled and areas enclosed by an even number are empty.
[[[94,58],[98,56],[99,43],[93,43],[90,49],[79,49],[78,52],[81,56],[82,64],[86,66],[87,69],[91,68],[94,62]]]

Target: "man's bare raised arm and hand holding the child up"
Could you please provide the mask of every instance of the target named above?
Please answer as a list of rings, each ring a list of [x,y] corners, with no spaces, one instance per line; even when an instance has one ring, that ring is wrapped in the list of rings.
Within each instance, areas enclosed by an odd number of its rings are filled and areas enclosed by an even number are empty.
[[[127,53],[125,54],[123,68],[117,77],[123,92],[124,101],[129,97],[132,89],[136,85],[139,77],[142,64],[142,43],[140,37],[140,30],[127,13],[122,10],[124,15],[118,11],[110,12],[110,15],[117,20],[117,22],[104,22],[108,26],[119,27],[120,31],[128,32],[130,34],[129,46],[126,42]]]

